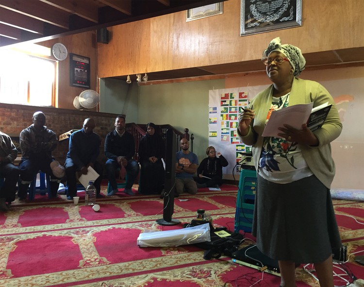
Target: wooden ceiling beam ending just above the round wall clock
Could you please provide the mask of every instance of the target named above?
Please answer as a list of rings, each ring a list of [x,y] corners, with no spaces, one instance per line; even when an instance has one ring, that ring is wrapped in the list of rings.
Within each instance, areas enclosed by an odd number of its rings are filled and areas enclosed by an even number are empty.
[[[0,7],[68,29],[69,14],[37,0],[0,0]]]

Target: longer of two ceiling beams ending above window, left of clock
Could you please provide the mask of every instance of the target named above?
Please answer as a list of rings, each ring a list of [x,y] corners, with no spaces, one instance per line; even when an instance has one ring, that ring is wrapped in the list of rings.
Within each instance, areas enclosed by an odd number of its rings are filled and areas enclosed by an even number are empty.
[[[1,2],[0,2],[1,3]],[[23,30],[30,30],[36,34],[44,34],[43,22],[32,17],[19,14],[0,7],[0,21],[11,26],[16,26]]]

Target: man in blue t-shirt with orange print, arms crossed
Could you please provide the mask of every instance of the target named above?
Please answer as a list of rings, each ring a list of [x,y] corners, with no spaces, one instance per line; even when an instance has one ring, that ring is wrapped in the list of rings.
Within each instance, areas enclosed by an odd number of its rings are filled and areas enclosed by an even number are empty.
[[[197,155],[190,152],[190,143],[182,138],[180,141],[182,151],[176,153],[176,195],[179,196],[183,191],[190,194],[197,193],[197,185],[193,175],[199,165]]]

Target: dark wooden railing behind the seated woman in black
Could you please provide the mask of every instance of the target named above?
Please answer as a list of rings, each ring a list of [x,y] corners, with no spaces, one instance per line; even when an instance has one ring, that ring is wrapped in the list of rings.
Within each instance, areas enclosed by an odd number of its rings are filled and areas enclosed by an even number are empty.
[[[139,159],[139,156],[138,156],[139,141],[147,132],[147,124],[136,124],[134,122],[131,122],[131,123],[126,124],[125,129],[127,130],[128,133],[132,134],[132,136],[134,137],[134,141],[135,141],[134,159],[138,160]],[[193,137],[193,134],[190,137],[190,135],[188,134],[187,128],[184,129],[184,133],[182,133],[169,124],[156,125],[155,133],[161,135],[163,137],[163,139],[165,140],[165,134],[168,129],[172,129],[174,131],[174,133],[178,136],[178,140],[177,140],[177,150],[178,151],[180,150],[180,140],[182,138],[186,138],[187,140],[190,140],[190,150],[191,150],[191,152],[193,151],[194,137]]]

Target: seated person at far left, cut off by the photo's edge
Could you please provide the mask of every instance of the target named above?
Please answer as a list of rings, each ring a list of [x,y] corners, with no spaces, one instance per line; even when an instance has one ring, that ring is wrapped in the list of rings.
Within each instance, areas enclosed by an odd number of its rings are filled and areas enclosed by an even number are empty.
[[[9,135],[0,132],[0,176],[5,178],[0,186],[0,211],[8,211],[15,200],[19,169],[13,164],[17,158],[17,148]],[[8,205],[6,205],[8,203]]]

